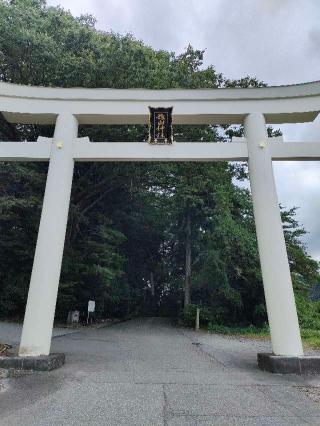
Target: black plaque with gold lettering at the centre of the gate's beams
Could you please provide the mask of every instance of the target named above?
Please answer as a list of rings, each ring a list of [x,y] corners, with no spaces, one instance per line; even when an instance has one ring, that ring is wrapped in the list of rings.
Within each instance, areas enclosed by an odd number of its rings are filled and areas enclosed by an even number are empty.
[[[172,110],[170,108],[154,108],[150,110],[149,143],[170,145],[173,142]]]

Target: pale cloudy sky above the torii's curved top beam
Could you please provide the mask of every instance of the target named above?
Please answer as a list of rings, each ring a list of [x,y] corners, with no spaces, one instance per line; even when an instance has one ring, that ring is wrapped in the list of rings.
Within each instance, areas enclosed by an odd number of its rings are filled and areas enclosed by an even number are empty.
[[[49,0],[57,4],[58,0]],[[310,31],[318,0],[64,0],[74,13],[91,12],[104,30],[132,32],[156,49],[207,50],[206,64],[226,76],[255,75],[269,84],[318,78]],[[319,58],[315,59],[319,61]],[[319,63],[318,63],[319,64]]]

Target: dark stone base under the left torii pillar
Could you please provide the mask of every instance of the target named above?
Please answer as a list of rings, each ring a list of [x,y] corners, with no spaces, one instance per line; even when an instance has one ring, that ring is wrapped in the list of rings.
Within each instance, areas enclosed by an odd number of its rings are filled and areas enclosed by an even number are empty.
[[[0,356],[0,369],[19,371],[51,371],[65,363],[65,354],[41,356]]]

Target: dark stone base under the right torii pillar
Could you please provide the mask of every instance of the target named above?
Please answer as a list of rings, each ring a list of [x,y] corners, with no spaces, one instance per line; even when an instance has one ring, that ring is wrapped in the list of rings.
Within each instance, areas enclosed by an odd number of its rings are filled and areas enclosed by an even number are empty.
[[[320,374],[320,356],[258,354],[258,367],[275,374]]]

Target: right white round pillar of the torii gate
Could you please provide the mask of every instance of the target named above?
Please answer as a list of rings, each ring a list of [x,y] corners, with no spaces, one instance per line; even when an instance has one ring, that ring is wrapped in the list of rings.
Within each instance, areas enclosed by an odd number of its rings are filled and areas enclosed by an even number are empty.
[[[272,349],[299,357],[303,348],[263,114],[249,114],[244,127]]]

